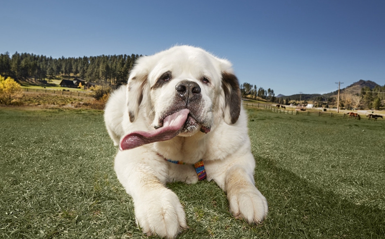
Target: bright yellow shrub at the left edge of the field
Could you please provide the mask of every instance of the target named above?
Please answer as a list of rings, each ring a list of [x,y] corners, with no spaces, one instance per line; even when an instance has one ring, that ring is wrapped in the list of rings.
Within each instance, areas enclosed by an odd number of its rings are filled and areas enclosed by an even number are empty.
[[[0,104],[11,104],[23,96],[19,83],[11,77],[4,78],[0,75]]]

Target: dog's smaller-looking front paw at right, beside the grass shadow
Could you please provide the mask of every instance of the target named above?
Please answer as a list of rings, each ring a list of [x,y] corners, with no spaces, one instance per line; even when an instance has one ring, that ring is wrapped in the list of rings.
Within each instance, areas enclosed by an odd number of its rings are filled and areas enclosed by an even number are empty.
[[[268,215],[268,201],[254,185],[244,185],[228,192],[230,211],[235,218],[260,223]]]

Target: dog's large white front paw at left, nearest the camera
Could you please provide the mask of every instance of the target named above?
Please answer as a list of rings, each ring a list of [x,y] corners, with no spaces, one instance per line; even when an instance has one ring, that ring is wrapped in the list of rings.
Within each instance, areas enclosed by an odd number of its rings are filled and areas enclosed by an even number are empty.
[[[187,228],[183,206],[169,189],[151,191],[146,199],[135,202],[135,216],[147,236],[171,239]]]

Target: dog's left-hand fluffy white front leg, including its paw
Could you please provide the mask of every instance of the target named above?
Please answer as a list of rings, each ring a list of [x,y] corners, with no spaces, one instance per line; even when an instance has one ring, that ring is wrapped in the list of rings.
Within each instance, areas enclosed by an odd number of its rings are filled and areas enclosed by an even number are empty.
[[[186,216],[178,197],[164,186],[167,162],[154,153],[119,151],[115,171],[135,205],[138,226],[147,236],[175,238],[187,228]],[[138,152],[136,152],[138,151]]]

